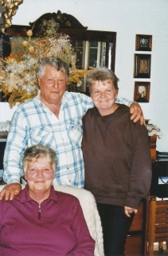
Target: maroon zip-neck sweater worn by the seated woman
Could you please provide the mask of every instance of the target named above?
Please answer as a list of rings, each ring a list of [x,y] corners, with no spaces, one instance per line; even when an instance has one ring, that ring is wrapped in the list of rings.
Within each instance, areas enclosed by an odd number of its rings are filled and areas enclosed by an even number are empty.
[[[77,198],[53,189],[38,203],[27,187],[12,201],[0,201],[0,255],[93,256],[89,234]]]

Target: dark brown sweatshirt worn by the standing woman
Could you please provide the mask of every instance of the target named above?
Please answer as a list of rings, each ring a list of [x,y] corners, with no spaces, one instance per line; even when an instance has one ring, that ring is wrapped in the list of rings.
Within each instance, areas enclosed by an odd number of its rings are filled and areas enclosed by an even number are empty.
[[[138,209],[150,190],[150,146],[147,128],[130,117],[122,104],[107,116],[96,107],[84,115],[84,188],[96,202]]]

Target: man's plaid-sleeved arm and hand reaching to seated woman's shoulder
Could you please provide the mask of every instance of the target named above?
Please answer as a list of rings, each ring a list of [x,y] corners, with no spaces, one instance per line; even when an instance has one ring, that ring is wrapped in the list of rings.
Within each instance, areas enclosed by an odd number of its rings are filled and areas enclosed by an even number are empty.
[[[22,175],[21,159],[25,150],[24,141],[26,139],[25,127],[21,114],[15,112],[10,125],[4,154],[3,180],[7,185],[0,193],[0,200],[5,196],[6,200],[12,200],[14,195],[21,190],[20,178]]]

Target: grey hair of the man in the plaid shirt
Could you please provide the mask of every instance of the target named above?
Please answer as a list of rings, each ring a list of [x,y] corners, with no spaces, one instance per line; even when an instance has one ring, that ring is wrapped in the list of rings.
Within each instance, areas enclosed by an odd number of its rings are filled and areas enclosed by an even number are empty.
[[[54,56],[40,58],[39,64],[37,66],[36,74],[37,76],[41,77],[44,73],[44,68],[46,65],[55,67],[58,71],[63,72],[66,74],[67,79],[69,76],[69,67],[66,62],[64,62],[61,58],[57,58]]]

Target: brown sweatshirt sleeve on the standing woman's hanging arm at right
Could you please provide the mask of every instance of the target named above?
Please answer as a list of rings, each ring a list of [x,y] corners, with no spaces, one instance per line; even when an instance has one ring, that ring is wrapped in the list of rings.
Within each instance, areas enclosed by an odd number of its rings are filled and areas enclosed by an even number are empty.
[[[149,194],[152,175],[150,145],[146,126],[141,126],[139,122],[131,122],[131,139],[131,176],[125,206],[138,209],[141,200],[147,198]]]

